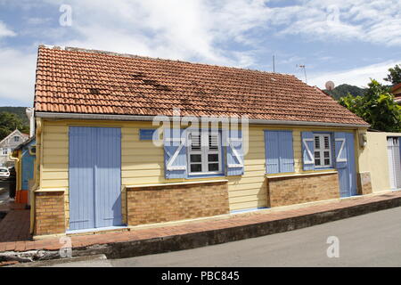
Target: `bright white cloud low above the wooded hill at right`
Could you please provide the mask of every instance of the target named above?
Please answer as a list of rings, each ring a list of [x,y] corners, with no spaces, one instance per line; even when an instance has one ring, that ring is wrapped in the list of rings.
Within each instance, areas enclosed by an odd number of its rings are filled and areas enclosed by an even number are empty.
[[[337,72],[327,72],[319,74],[308,75],[307,84],[316,85],[319,88],[325,88],[324,85],[327,81],[331,80],[336,86],[341,84],[356,85],[359,87],[366,87],[370,82],[370,78],[376,79],[379,82],[389,85],[389,82],[383,80],[389,74],[389,68],[393,68],[399,61],[384,61],[356,69],[348,69]],[[304,79],[303,77],[299,77]]]

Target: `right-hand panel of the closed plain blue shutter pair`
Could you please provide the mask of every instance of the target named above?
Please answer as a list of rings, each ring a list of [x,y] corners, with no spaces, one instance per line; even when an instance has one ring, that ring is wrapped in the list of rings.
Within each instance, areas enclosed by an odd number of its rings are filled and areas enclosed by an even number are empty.
[[[292,132],[280,131],[278,133],[280,172],[294,172],[294,151],[292,147]]]

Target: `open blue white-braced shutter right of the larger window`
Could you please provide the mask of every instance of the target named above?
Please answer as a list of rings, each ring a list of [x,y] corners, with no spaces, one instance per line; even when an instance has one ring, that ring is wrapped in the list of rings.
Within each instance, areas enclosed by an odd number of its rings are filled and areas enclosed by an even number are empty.
[[[241,130],[224,131],[226,157],[227,157],[227,175],[243,175],[243,148]]]

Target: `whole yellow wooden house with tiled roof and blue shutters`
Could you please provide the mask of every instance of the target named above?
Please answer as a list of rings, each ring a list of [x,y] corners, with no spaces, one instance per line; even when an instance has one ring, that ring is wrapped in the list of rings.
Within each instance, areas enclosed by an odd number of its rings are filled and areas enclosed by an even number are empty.
[[[175,109],[249,126],[152,124]],[[369,125],[291,75],[40,46],[35,116],[35,235],[372,192]]]

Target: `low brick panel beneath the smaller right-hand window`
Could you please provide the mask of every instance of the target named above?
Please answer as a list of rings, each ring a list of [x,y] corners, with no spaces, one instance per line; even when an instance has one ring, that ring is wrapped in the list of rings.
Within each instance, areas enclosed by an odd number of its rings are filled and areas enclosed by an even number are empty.
[[[267,178],[270,207],[340,198],[337,173]]]

